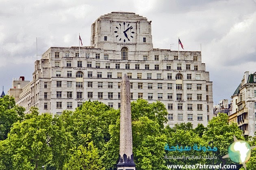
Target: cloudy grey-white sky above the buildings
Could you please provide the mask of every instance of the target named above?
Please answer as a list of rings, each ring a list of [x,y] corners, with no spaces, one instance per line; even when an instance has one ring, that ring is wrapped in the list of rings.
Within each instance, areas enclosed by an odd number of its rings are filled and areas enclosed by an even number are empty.
[[[154,48],[200,51],[213,99],[230,100],[245,71],[256,72],[256,0],[0,0],[0,90],[12,78],[32,79],[50,47],[90,45],[91,23],[112,11],[152,21]],[[36,37],[38,52],[36,50]]]

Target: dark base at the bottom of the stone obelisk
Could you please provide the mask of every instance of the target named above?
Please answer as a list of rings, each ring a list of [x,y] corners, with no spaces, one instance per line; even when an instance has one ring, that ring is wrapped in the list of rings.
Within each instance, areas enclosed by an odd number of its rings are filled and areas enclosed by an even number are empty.
[[[117,164],[117,170],[135,170],[135,163],[133,161],[133,154],[131,157],[127,157],[126,154],[121,157],[119,155],[119,162]]]

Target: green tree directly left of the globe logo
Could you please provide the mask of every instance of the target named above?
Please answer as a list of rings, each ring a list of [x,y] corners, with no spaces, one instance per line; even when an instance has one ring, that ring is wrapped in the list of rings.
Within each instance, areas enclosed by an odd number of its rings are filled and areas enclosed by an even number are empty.
[[[213,117],[208,122],[207,130],[202,135],[202,138],[206,142],[213,141],[214,147],[217,147],[218,150],[214,152],[217,157],[215,164],[234,164],[230,159],[223,159],[222,157],[228,154],[228,147],[234,142],[233,135],[238,140],[244,140],[242,134],[243,132],[238,128],[236,123],[228,123],[228,115],[226,113],[219,113],[219,116]]]

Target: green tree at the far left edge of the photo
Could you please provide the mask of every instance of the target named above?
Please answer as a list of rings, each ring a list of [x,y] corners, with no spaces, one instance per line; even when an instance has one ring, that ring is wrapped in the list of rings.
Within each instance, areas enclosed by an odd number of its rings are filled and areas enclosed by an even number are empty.
[[[7,138],[13,123],[24,119],[24,111],[25,108],[15,105],[13,97],[0,98],[0,140]]]

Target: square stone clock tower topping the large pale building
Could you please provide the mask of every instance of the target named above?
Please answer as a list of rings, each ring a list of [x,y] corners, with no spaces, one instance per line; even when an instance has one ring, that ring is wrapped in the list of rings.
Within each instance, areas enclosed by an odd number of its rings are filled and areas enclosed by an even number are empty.
[[[112,12],[91,25],[91,46],[121,51],[152,51],[151,21],[130,12]]]

